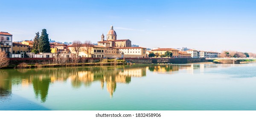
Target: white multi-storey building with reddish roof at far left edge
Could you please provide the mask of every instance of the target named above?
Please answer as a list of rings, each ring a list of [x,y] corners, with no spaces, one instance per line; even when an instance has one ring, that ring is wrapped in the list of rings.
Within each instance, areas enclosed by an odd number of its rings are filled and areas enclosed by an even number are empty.
[[[2,51],[6,51],[7,53],[12,52],[12,34],[8,32],[0,32],[0,47]]]

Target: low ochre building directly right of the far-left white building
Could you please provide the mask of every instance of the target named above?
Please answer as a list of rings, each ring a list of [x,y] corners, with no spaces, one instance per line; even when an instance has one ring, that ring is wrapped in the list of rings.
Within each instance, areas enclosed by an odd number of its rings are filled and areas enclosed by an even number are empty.
[[[12,54],[20,54],[20,52],[29,52],[29,45],[13,42],[12,43]]]

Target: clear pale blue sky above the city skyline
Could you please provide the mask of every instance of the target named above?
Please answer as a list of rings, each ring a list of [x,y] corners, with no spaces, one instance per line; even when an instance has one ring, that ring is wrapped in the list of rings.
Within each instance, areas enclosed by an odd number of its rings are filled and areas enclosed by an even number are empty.
[[[1,0],[0,31],[13,41],[47,29],[61,42],[117,39],[146,48],[256,53],[256,0]]]

